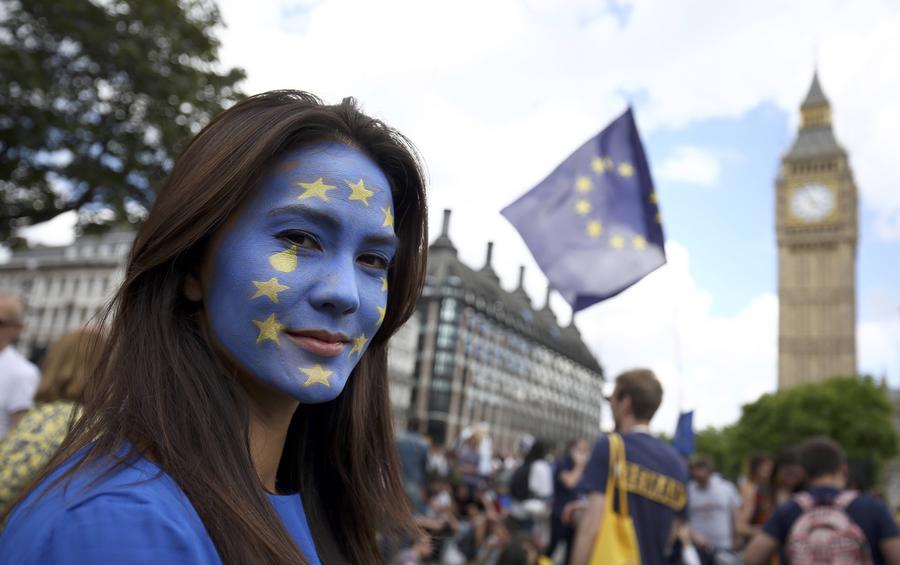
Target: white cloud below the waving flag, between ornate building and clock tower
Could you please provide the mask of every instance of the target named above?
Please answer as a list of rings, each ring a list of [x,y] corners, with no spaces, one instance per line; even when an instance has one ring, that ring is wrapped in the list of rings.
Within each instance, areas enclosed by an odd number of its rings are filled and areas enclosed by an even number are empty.
[[[576,322],[610,378],[634,367],[660,377],[666,394],[654,428],[673,433],[682,409],[696,410],[697,428],[733,422],[741,404],[776,386],[778,300],[765,294],[734,316],[714,316],[688,250],[669,241],[666,254],[666,266]]]

